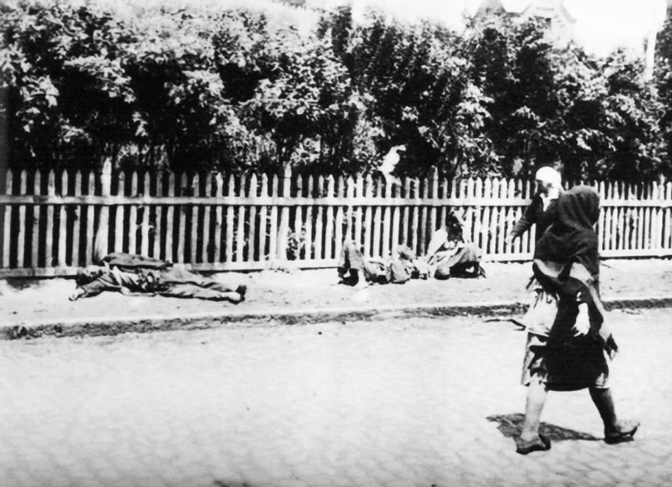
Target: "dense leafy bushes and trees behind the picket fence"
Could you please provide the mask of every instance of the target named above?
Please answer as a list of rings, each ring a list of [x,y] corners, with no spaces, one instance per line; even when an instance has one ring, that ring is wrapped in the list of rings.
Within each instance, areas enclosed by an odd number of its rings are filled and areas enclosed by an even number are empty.
[[[529,176],[542,164],[567,178],[670,175],[672,64],[659,66],[657,91],[640,62],[553,47],[535,21],[481,16],[457,36],[375,13],[355,24],[343,9],[304,34],[252,10],[3,9],[12,167],[109,156],[352,173],[405,144],[401,175]]]

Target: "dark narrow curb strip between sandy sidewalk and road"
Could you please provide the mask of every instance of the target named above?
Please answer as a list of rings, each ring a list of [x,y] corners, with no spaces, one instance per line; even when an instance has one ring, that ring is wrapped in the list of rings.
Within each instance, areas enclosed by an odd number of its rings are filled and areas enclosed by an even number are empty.
[[[608,311],[616,309],[652,309],[672,307],[672,296],[642,298],[625,296],[604,300]],[[259,326],[348,322],[354,320],[381,321],[392,318],[436,316],[520,316],[528,302],[461,302],[452,305],[420,304],[407,306],[348,307],[326,309],[298,309],[295,311],[269,309],[228,313],[193,313],[187,316],[130,316],[117,318],[74,318],[72,320],[45,320],[31,324],[0,325],[0,340],[37,338],[43,336],[72,337],[118,335],[120,333],[147,333],[152,331],[211,329],[218,326]]]

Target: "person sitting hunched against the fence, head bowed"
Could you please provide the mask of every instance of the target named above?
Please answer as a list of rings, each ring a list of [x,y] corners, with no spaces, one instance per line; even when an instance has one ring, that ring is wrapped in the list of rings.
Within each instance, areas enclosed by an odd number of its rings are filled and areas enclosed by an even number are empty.
[[[450,213],[429,240],[424,261],[437,279],[485,277],[481,255],[479,246],[464,239],[460,219]]]

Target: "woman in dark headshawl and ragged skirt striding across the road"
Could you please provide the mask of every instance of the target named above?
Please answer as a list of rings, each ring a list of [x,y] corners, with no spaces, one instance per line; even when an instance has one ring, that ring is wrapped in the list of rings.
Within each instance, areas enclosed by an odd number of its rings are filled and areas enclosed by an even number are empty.
[[[551,448],[551,440],[539,433],[549,390],[588,388],[604,423],[605,442],[632,440],[639,426],[616,416],[609,389],[609,361],[617,346],[599,296],[593,228],[598,217],[597,191],[575,187],[559,196],[553,223],[536,244],[533,271],[539,287],[525,315],[525,423],[516,438],[516,451],[523,455]]]

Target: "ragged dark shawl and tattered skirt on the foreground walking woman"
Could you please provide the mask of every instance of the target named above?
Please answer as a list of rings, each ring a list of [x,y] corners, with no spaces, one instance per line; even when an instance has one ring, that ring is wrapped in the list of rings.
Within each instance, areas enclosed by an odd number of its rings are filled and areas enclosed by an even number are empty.
[[[593,225],[599,195],[575,187],[557,200],[555,217],[537,241],[533,261],[535,298],[524,322],[528,340],[523,384],[551,389],[607,388],[609,359],[616,352],[599,298],[599,254]],[[588,333],[576,333],[579,306],[588,309]]]

